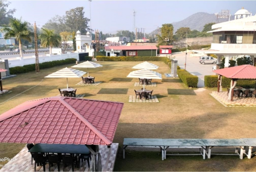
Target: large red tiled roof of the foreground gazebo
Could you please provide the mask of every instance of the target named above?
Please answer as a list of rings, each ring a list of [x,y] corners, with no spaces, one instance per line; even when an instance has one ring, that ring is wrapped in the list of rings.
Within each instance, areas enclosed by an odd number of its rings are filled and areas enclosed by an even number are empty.
[[[50,97],[0,115],[0,142],[109,145],[123,103]]]

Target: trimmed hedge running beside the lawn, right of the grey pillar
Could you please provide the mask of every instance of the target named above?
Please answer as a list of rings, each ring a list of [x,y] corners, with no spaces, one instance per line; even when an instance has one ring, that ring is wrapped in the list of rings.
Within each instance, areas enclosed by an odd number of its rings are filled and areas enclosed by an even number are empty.
[[[183,83],[185,83],[188,87],[197,87],[198,83],[198,77],[190,74],[188,71],[185,71],[184,69],[177,70],[177,74],[179,78],[182,80]]]

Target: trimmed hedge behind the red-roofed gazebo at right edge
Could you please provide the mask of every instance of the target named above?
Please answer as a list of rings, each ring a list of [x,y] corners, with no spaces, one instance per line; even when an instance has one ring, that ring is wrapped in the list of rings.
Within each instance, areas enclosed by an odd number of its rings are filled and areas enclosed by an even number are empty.
[[[255,80],[237,80],[236,86],[255,88]],[[222,88],[230,88],[231,79],[222,77]],[[204,76],[204,86],[208,88],[214,88],[218,86],[217,75],[206,75]]]

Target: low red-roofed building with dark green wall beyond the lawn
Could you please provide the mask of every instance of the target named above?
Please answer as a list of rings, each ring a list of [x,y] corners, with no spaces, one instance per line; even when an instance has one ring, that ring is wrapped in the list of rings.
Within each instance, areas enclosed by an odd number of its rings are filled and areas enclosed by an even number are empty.
[[[157,56],[156,46],[105,46],[106,56]]]

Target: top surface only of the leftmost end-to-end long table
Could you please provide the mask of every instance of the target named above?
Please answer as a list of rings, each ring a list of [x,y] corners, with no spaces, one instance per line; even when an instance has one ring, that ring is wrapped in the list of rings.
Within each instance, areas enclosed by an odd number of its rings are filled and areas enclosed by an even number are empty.
[[[162,138],[124,138],[123,145],[130,146],[163,146]]]

